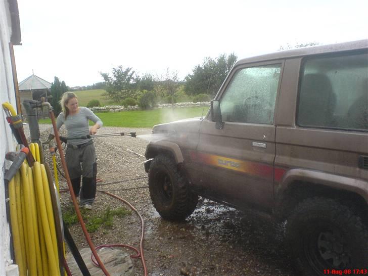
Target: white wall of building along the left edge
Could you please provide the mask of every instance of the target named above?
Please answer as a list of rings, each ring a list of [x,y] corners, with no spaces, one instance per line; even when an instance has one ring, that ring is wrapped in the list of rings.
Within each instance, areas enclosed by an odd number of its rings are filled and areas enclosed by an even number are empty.
[[[0,104],[10,102],[16,108],[9,42],[11,38],[11,17],[8,1],[0,1]],[[10,229],[5,209],[4,171],[9,167],[5,154],[15,150],[9,124],[3,108],[0,111],[0,275],[13,263],[10,257]]]

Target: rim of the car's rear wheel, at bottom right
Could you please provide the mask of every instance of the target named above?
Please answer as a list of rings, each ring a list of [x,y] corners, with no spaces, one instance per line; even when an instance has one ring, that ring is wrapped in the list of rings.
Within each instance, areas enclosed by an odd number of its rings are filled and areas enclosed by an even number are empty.
[[[305,255],[317,274],[324,269],[346,269],[351,266],[349,244],[338,227],[319,227],[304,242]]]

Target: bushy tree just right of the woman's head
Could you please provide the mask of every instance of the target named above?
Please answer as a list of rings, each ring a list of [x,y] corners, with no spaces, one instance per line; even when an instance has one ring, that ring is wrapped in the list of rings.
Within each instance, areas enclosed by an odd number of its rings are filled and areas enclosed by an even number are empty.
[[[106,96],[116,102],[121,102],[127,97],[134,98],[139,77],[131,67],[123,68],[121,65],[112,69],[109,73],[100,72],[106,84]]]

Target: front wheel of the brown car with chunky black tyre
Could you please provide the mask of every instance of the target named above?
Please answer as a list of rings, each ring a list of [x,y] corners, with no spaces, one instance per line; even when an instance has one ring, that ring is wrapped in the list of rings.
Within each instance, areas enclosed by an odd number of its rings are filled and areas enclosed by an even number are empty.
[[[156,156],[148,172],[150,196],[157,212],[168,220],[183,220],[193,213],[198,195],[190,191],[171,158]]]

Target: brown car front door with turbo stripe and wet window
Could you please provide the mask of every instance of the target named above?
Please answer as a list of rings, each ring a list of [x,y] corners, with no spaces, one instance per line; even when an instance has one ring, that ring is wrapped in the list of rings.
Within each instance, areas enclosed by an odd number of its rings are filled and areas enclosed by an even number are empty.
[[[216,96],[223,128],[208,115],[192,153],[199,194],[235,205],[265,206],[273,199],[274,107],[283,61],[238,65]]]

